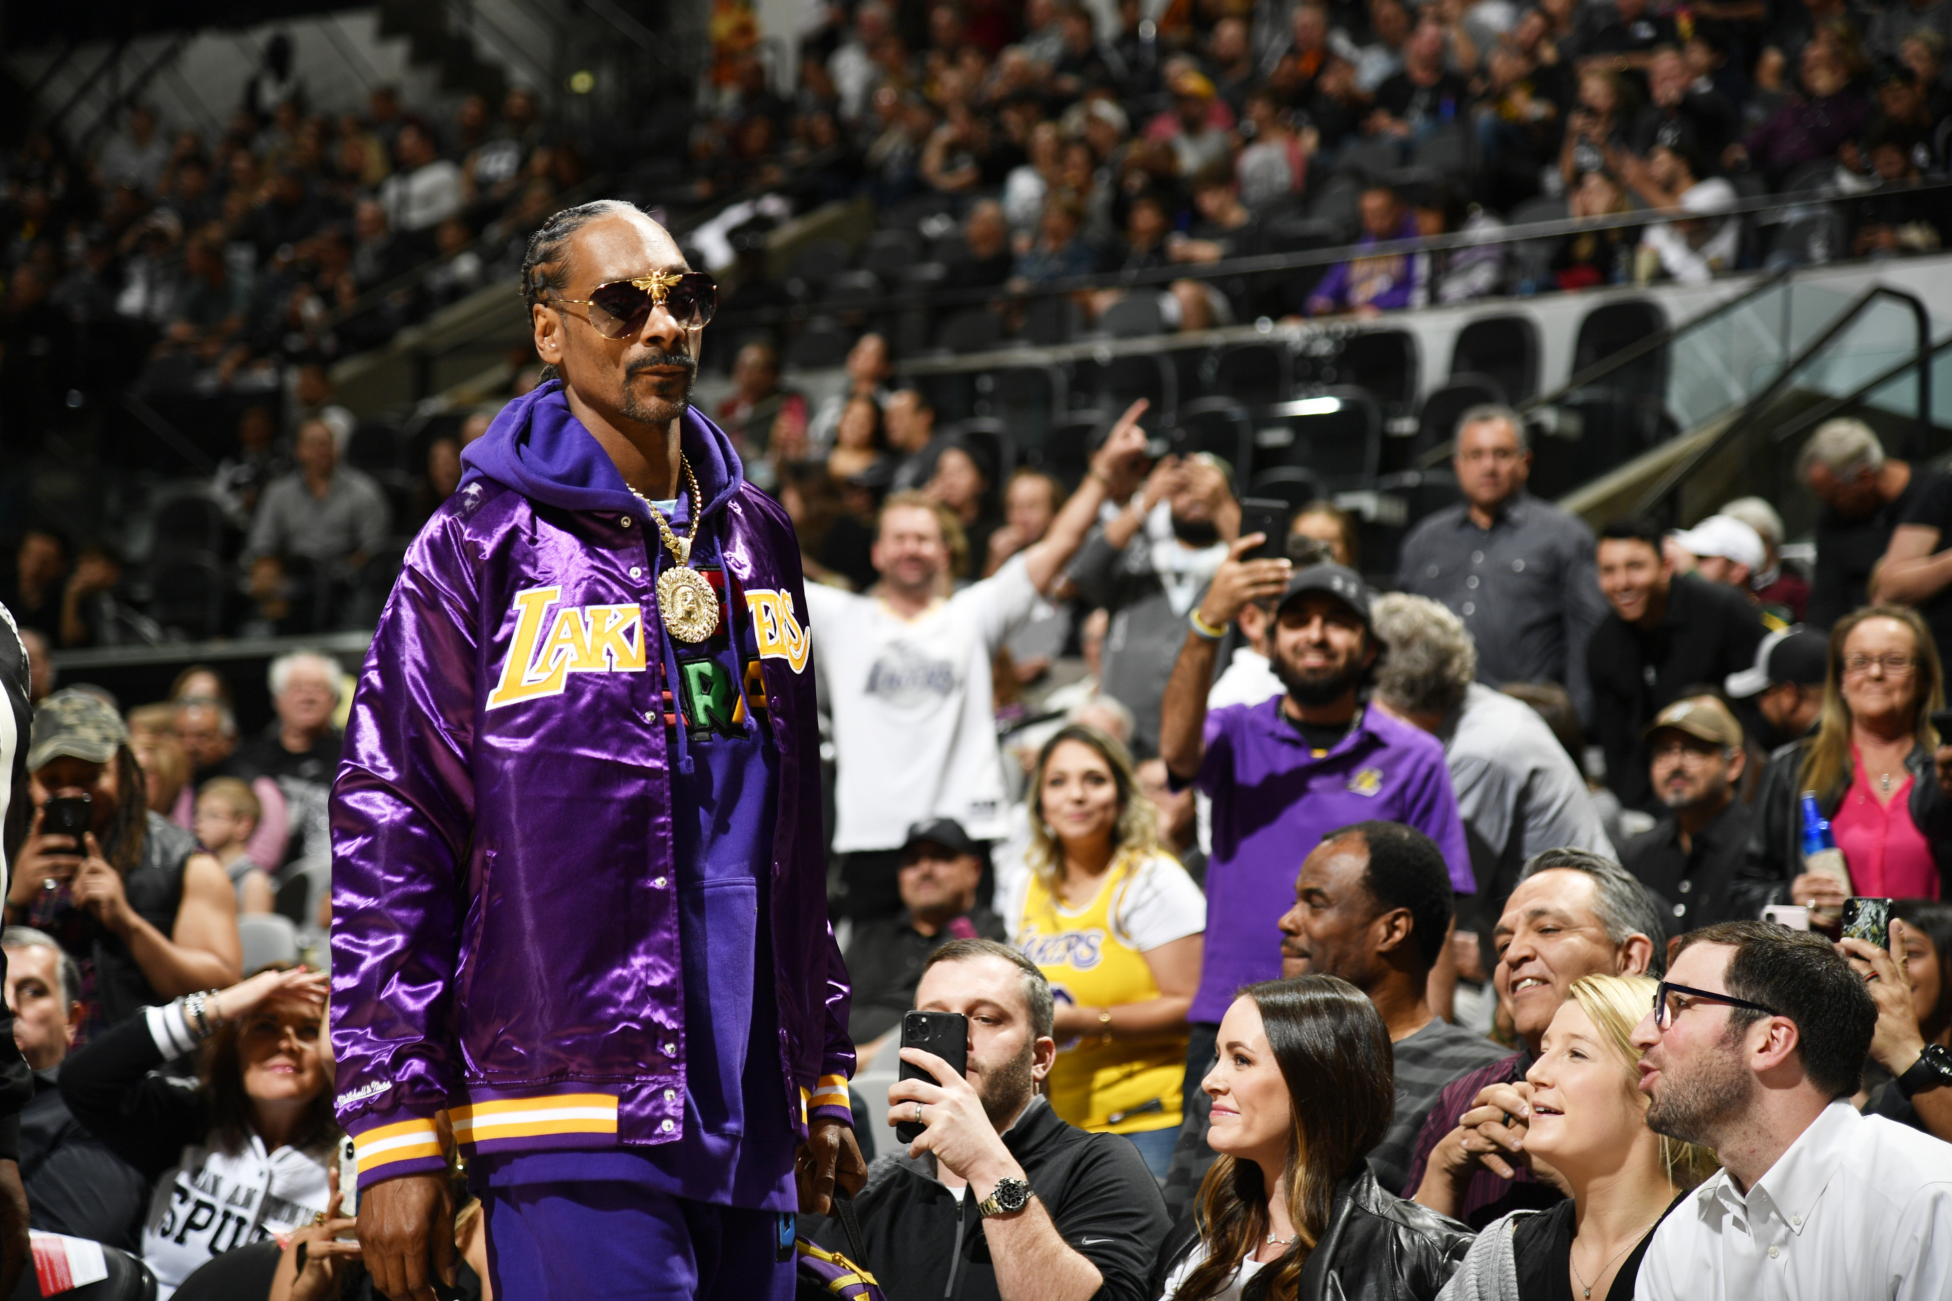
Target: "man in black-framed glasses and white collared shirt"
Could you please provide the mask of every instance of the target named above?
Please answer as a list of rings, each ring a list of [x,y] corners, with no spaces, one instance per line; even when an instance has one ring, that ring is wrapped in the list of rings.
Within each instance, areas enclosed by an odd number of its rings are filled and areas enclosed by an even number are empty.
[[[1952,1295],[1952,1145],[1850,1106],[1864,977],[1755,921],[1685,936],[1667,975],[1634,1030],[1647,1125],[1722,1170],[1655,1231],[1636,1301]]]

